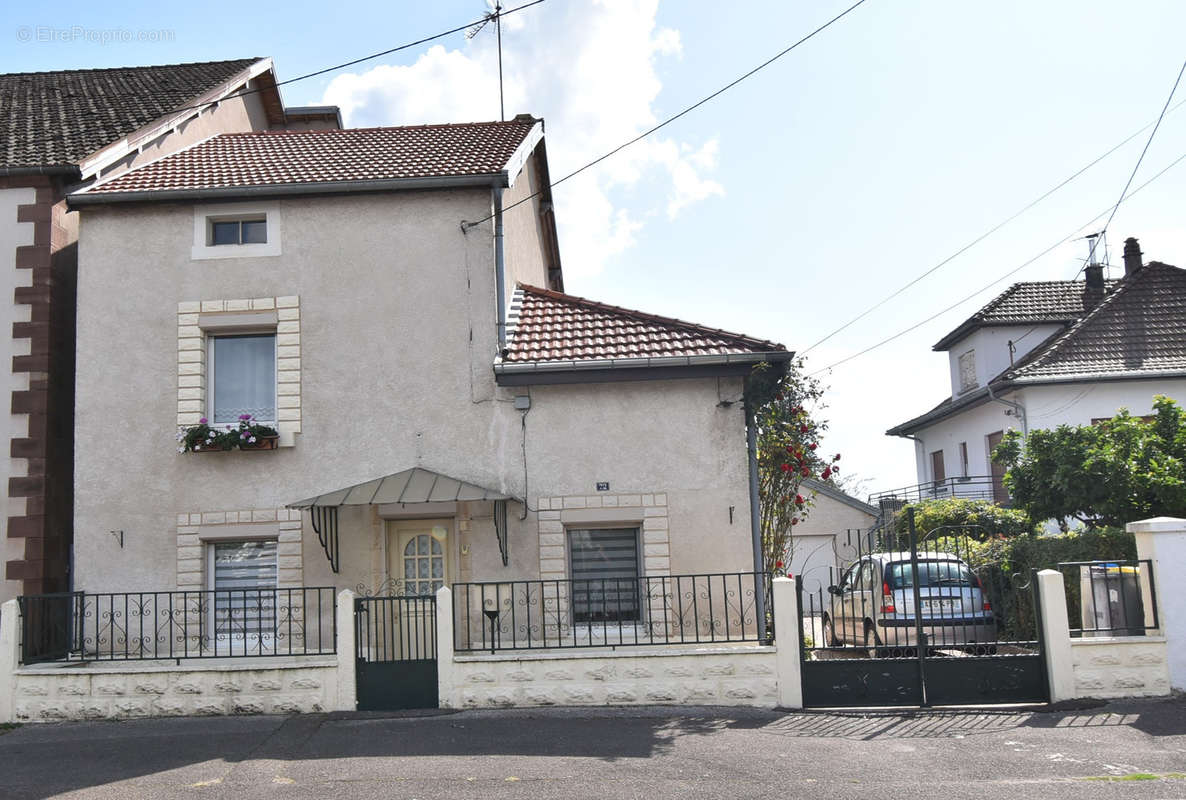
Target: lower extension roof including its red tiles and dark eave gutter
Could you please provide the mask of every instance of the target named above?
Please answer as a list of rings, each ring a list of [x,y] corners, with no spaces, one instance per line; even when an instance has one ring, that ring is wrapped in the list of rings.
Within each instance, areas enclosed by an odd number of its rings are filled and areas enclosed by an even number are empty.
[[[786,361],[783,345],[741,333],[519,284],[508,318],[502,375]]]

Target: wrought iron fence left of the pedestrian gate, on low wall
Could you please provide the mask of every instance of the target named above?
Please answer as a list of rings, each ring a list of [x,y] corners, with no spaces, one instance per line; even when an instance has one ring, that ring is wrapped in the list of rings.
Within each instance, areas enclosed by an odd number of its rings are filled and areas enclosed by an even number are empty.
[[[21,663],[334,653],[334,602],[333,587],[26,595]]]

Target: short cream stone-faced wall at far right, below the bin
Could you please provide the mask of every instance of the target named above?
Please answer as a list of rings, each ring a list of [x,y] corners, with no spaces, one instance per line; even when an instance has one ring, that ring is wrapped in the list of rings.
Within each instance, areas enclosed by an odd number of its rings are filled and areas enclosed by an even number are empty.
[[[1162,636],[1072,639],[1077,697],[1160,697],[1169,693]]]

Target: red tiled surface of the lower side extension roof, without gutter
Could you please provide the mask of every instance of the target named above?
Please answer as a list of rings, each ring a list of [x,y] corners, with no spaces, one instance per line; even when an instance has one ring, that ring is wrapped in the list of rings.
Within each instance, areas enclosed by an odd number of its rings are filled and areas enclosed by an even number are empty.
[[[786,353],[786,348],[740,333],[521,284],[511,305],[502,363],[755,353]]]

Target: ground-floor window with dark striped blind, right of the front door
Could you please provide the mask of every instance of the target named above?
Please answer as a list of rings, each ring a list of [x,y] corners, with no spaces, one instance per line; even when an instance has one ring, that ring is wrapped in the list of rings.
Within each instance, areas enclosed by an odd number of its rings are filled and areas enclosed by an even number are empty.
[[[637,622],[638,529],[568,531],[574,622]]]

